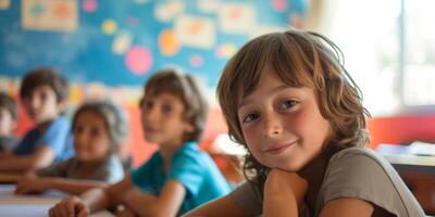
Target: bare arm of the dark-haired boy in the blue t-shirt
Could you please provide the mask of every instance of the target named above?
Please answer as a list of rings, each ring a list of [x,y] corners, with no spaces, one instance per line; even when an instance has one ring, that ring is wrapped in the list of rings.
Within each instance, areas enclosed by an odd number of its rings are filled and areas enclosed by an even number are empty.
[[[49,166],[54,161],[54,152],[41,145],[30,155],[9,156],[0,159],[0,171],[28,171]]]

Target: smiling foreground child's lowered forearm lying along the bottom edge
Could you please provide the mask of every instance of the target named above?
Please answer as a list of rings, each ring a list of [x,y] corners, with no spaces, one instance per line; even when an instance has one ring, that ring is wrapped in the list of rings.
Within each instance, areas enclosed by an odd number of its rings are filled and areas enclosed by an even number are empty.
[[[215,199],[207,204],[203,204],[189,213],[185,214],[184,217],[220,217],[220,216],[250,216],[246,210],[237,205],[231,195],[225,195]]]

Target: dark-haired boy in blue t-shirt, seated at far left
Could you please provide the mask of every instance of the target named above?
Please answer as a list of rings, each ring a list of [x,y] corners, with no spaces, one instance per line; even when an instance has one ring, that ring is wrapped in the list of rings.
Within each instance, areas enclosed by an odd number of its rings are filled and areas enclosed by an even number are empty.
[[[70,120],[61,116],[67,95],[66,80],[52,68],[35,68],[24,77],[20,97],[36,127],[0,159],[0,171],[38,169],[74,154]]]

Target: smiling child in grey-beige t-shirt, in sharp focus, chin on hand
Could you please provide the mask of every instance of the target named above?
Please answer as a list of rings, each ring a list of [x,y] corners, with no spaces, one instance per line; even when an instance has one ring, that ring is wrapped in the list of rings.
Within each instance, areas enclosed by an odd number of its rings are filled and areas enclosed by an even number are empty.
[[[295,29],[252,39],[231,59],[217,94],[231,137],[248,150],[248,182],[186,216],[424,216],[366,148],[369,113],[339,54]]]

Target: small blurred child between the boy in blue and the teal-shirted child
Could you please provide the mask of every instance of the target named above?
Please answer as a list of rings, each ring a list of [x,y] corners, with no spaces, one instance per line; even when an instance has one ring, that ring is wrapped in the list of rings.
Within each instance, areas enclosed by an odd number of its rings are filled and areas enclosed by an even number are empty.
[[[73,133],[75,156],[25,177],[16,193],[55,189],[77,195],[124,178],[117,154],[127,138],[128,124],[119,106],[107,101],[85,103],[74,115]]]

